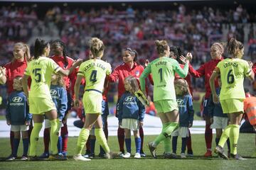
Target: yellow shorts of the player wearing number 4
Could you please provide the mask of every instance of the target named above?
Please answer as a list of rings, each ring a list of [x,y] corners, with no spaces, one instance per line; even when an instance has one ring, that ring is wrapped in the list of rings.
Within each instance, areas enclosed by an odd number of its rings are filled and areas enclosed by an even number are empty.
[[[100,113],[102,114],[102,94],[97,91],[85,91],[82,96],[82,103],[85,108],[85,113]]]

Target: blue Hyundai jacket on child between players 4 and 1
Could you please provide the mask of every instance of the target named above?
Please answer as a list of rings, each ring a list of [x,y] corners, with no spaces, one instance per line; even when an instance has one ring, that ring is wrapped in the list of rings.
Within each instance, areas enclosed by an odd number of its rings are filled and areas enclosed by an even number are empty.
[[[132,96],[129,92],[125,92],[118,102],[117,107],[119,123],[123,118],[137,119],[143,121],[146,113],[144,105],[136,96]]]

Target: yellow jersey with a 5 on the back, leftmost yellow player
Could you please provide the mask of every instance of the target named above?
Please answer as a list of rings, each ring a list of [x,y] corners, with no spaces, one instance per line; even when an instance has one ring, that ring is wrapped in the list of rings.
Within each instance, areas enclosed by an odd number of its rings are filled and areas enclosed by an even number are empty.
[[[48,57],[39,57],[28,63],[24,74],[30,76],[31,89],[29,97],[51,98],[50,80],[53,73],[57,73],[61,68]]]

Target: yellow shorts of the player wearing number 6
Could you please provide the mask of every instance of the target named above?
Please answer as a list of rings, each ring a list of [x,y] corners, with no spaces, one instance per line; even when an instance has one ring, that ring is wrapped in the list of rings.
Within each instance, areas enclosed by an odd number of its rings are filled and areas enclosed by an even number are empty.
[[[225,99],[220,101],[221,108],[223,109],[223,113],[235,113],[235,112],[243,112],[243,104],[244,99]]]

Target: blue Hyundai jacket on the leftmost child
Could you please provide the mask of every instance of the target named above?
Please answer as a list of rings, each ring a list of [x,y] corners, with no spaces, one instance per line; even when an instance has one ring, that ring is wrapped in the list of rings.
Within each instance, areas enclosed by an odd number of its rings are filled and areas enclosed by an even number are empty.
[[[6,120],[11,121],[11,125],[25,125],[26,121],[31,121],[32,114],[28,111],[27,98],[23,91],[13,91],[7,101]]]

